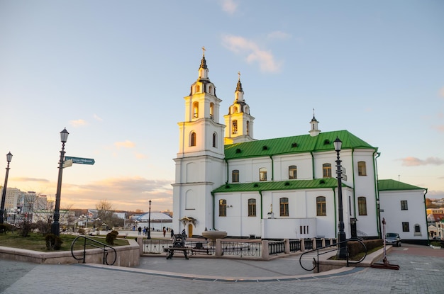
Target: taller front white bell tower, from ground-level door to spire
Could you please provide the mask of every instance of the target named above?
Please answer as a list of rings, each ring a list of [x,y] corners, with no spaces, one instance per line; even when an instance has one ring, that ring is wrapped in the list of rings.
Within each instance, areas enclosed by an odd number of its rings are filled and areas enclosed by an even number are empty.
[[[189,96],[184,97],[185,120],[178,123],[179,152],[174,159],[173,228],[180,232],[185,227],[187,234],[201,234],[205,228],[213,228],[211,191],[226,182],[225,125],[218,122],[222,100],[209,79],[205,48],[202,49],[199,77]]]

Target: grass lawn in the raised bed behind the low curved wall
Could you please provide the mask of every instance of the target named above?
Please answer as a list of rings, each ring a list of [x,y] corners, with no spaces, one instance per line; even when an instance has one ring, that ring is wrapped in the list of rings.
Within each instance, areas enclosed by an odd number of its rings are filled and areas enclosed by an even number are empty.
[[[60,251],[69,251],[71,250],[71,244],[72,241],[77,236],[70,235],[70,234],[60,234],[60,238],[62,239],[62,249]],[[96,241],[102,242],[106,244],[105,236],[86,236],[91,239],[94,239]],[[79,238],[77,239],[74,250],[77,249],[83,249],[84,239]],[[116,246],[124,246],[128,245],[128,240],[126,239],[116,239],[114,241],[113,247]],[[99,245],[99,244],[98,244]],[[46,242],[45,242],[45,236],[43,234],[39,233],[30,233],[28,237],[21,237],[21,234],[18,232],[8,232],[7,234],[0,234],[0,246],[4,247],[13,247],[13,248],[20,248],[20,249],[28,249],[28,250],[34,250],[34,251],[43,251],[43,252],[50,252],[50,250],[46,249]],[[87,245],[87,249],[96,248],[92,247],[90,245]]]

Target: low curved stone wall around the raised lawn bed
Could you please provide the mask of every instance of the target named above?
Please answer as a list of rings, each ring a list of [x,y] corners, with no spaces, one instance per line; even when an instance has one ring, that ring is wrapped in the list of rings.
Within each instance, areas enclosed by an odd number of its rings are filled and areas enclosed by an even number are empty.
[[[127,246],[114,247],[117,252],[114,266],[129,267],[139,265],[139,245],[133,239],[128,239],[128,242],[129,245]],[[83,258],[83,250],[75,250],[74,255],[77,256],[77,258]],[[85,254],[85,262],[87,264],[103,264],[103,258],[104,251],[101,249],[87,249]],[[83,262],[82,260],[74,259],[71,251],[40,252],[1,246],[0,259],[27,261],[35,264],[78,264]],[[108,257],[109,263],[111,263],[113,259],[113,252],[110,252]]]

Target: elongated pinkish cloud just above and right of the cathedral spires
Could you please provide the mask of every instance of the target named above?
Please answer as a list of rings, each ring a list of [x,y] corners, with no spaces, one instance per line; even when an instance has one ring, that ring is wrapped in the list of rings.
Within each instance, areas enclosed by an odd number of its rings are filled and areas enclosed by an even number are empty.
[[[248,63],[257,62],[262,72],[279,72],[282,64],[274,60],[272,52],[262,50],[253,41],[235,35],[225,35],[222,38],[223,45],[238,55],[245,55]]]

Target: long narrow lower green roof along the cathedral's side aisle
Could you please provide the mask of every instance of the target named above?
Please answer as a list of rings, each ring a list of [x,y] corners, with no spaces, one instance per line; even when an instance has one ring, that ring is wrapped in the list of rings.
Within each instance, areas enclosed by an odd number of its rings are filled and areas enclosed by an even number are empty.
[[[290,181],[260,181],[253,183],[227,183],[213,190],[214,193],[275,191],[275,190],[302,190],[314,188],[335,188],[338,180],[335,178],[315,180]],[[343,186],[346,186],[343,184]]]

